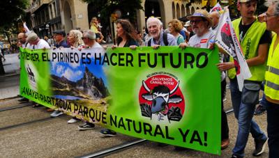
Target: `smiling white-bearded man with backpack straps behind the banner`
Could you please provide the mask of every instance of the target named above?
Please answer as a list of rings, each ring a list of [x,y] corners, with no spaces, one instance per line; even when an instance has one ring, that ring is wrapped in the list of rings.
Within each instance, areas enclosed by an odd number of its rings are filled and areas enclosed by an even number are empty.
[[[152,38],[146,42],[146,46],[157,49],[159,46],[176,45],[174,35],[163,32],[163,24],[156,17],[149,17],[146,21],[147,29]]]

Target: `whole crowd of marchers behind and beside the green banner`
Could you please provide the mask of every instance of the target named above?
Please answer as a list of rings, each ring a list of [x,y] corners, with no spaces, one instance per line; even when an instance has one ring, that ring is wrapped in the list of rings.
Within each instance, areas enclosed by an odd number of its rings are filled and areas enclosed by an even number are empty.
[[[243,55],[252,74],[246,79],[243,89],[239,90],[236,79],[236,69],[232,57],[219,48],[220,63],[217,67],[220,70],[221,86],[221,149],[229,145],[229,127],[227,116],[223,107],[226,93],[226,77],[229,78],[232,106],[234,116],[238,121],[238,133],[232,157],[244,157],[244,150],[248,142],[249,134],[255,141],[255,150],[252,155],[257,157],[265,151],[269,145],[269,157],[279,157],[279,1],[268,0],[268,10],[262,15],[255,16],[257,0],[238,0],[237,9],[241,17],[234,19],[232,25],[240,42],[241,49],[246,50]],[[137,47],[148,46],[158,49],[160,46],[200,47],[213,49],[218,28],[220,13],[208,13],[206,10],[196,10],[193,15],[188,15],[188,22],[183,24],[178,19],[172,19],[168,28],[163,29],[163,23],[156,17],[149,17],[146,20],[146,27],[142,31],[134,29],[127,19],[116,21],[116,47]],[[33,31],[19,33],[17,39],[20,47],[29,49],[50,49],[60,47],[72,47],[76,49],[101,48],[103,35],[100,33],[98,19],[93,17],[89,30],[71,30],[65,33],[63,30],[53,32],[53,39],[40,39]],[[259,106],[259,90],[264,90],[264,95]],[[20,102],[28,102],[22,98]],[[36,104],[35,106],[40,106]],[[53,111],[54,109],[47,109]],[[267,134],[257,125],[253,116],[266,111]],[[54,110],[52,117],[63,113]],[[77,123],[78,118],[71,118],[68,123]],[[95,125],[85,122],[78,126],[80,130],[93,129]],[[110,129],[102,129],[100,133],[106,136],[116,136],[116,132]],[[232,143],[231,143],[232,144]],[[183,148],[176,147],[181,150]],[[249,157],[249,156],[248,156]]]

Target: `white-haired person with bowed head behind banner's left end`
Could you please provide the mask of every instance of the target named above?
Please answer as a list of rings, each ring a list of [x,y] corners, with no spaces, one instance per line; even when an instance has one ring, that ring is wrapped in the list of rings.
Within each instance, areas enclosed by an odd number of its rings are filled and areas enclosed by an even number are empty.
[[[29,49],[50,49],[47,41],[38,38],[38,35],[34,32],[28,34],[27,42],[30,44]]]

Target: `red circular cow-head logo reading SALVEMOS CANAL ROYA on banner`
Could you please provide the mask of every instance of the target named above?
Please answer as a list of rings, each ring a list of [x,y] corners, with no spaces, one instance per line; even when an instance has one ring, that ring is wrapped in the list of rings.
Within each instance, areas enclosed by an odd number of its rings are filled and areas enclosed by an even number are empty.
[[[185,111],[183,93],[179,81],[167,74],[156,74],[142,81],[139,101],[142,116],[158,120],[181,120]]]

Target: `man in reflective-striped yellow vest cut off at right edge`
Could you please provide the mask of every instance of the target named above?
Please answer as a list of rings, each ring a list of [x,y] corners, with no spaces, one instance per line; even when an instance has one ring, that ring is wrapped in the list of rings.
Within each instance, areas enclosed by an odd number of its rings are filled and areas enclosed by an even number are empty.
[[[267,134],[269,136],[269,157],[279,157],[279,1],[268,0],[269,6],[264,15],[266,29],[273,31],[273,39],[269,47],[269,58],[265,73],[264,94],[267,105]]]

